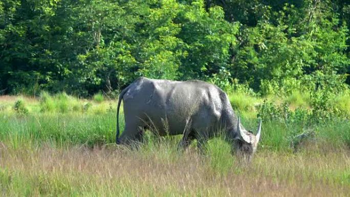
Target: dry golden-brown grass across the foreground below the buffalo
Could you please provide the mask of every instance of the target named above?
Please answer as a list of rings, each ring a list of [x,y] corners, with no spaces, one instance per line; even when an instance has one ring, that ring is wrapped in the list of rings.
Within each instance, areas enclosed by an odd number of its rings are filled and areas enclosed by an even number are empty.
[[[12,149],[0,145],[3,196],[348,196],[350,154],[258,152],[251,164],[213,168],[184,154],[83,146]],[[167,157],[164,157],[167,156]],[[224,158],[224,157],[223,157]],[[218,161],[220,162],[220,161]]]

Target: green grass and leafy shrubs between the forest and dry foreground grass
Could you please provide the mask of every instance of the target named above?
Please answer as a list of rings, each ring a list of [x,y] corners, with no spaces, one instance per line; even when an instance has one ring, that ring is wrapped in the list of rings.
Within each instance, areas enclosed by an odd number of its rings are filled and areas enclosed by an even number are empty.
[[[243,117],[245,127],[255,131],[256,119],[263,120],[259,148],[290,151],[300,135],[307,136],[307,133],[313,137],[303,137],[303,141],[316,139],[336,147],[350,147],[347,111],[350,101],[346,100],[346,94],[318,92],[307,99],[307,96],[295,93],[282,102],[241,92],[228,95],[235,113]],[[38,101],[14,97],[12,103],[7,99],[0,104],[3,109],[0,110],[0,140],[14,146],[41,141],[89,146],[114,143],[116,100],[96,103],[65,93],[50,95],[42,92]],[[123,112],[120,114],[123,130]]]

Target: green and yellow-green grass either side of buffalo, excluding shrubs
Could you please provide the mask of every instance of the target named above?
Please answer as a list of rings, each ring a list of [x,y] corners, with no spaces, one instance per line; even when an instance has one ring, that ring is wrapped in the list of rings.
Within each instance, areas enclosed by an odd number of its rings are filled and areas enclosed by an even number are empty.
[[[6,98],[6,99],[4,99]],[[65,93],[54,96],[43,92],[39,99],[19,97],[28,113],[16,113],[17,97],[4,97],[0,111],[0,140],[10,144],[53,142],[56,144],[114,143],[116,130],[116,101],[92,104],[89,100],[78,100]],[[343,97],[341,97],[343,98]],[[249,130],[256,132],[256,109],[261,102],[242,93],[230,94],[235,111],[243,117],[242,122]],[[244,102],[245,101],[245,102]],[[9,107],[8,107],[9,106]],[[122,107],[121,107],[122,109]],[[123,129],[123,112],[121,130]],[[265,121],[262,124],[260,148],[289,151],[293,137],[311,129],[317,138],[336,147],[350,147],[350,123],[348,120],[329,120],[322,124],[305,125],[298,121]]]

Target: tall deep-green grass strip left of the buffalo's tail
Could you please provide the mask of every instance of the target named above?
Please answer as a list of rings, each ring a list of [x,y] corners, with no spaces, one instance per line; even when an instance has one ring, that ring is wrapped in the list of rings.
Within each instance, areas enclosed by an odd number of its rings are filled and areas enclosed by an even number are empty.
[[[114,113],[100,116],[51,113],[18,116],[1,113],[0,125],[0,141],[15,147],[40,142],[93,146],[114,143],[116,119]]]

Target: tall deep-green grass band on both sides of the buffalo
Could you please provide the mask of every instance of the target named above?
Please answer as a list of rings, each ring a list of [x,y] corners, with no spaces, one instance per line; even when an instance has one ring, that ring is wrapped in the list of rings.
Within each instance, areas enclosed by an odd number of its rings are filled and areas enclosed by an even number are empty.
[[[123,112],[121,112],[123,114]],[[256,132],[255,118],[244,118],[243,124]],[[120,128],[124,127],[120,116]],[[82,113],[44,113],[8,114],[0,112],[0,140],[20,146],[22,143],[54,142],[56,144],[86,144],[89,146],[115,142],[115,112],[95,114]],[[350,122],[329,121],[310,128],[316,132],[316,140],[333,147],[350,147]],[[291,151],[293,137],[304,132],[298,123],[266,121],[262,124],[259,149]],[[147,138],[152,141],[151,138]],[[150,143],[152,145],[152,143]],[[224,148],[221,148],[224,149]]]

